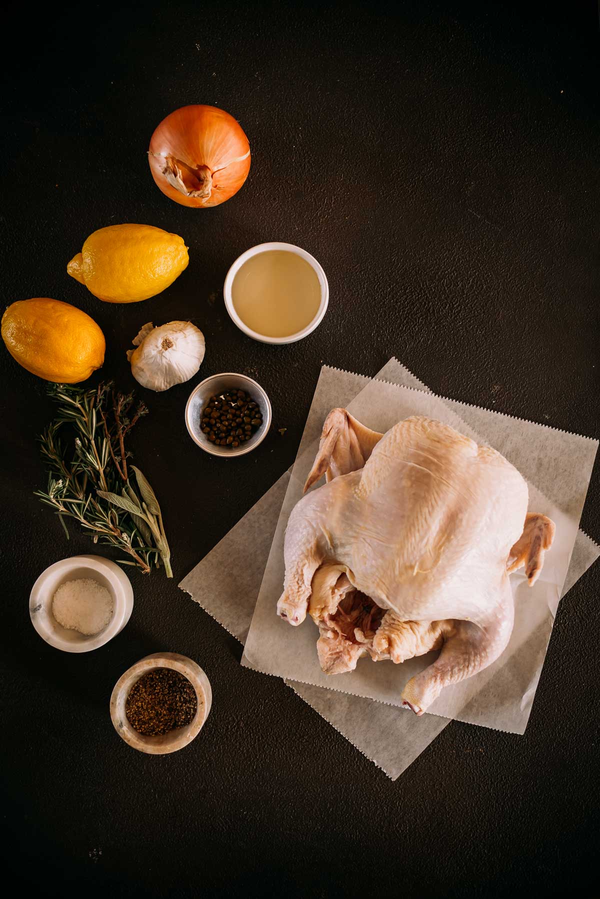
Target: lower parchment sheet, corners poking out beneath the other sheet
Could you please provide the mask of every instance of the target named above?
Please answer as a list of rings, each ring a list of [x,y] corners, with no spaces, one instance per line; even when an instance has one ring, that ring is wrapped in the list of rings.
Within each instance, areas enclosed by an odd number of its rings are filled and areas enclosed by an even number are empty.
[[[327,370],[324,369],[325,372]],[[390,360],[377,377],[428,390],[398,360]],[[326,405],[347,405],[369,383],[369,378],[347,374],[346,382],[348,389],[345,396],[338,394],[334,397],[326,390],[323,391]],[[473,408],[472,412],[476,413],[477,410]],[[468,419],[468,415],[465,418]],[[322,422],[317,422],[312,433],[307,427],[305,441],[318,439],[321,426]],[[479,430],[482,430],[480,426]],[[543,473],[542,471],[542,475]],[[189,592],[202,608],[242,643],[246,640],[289,479],[290,472],[282,475],[180,584],[182,589]],[[550,494],[551,483],[545,489]],[[249,533],[254,535],[251,543],[247,539]],[[237,570],[235,583],[228,583],[229,565],[224,565],[223,562],[228,561],[232,553],[243,558],[245,564]],[[576,583],[598,555],[600,549],[586,534],[579,531],[564,592]],[[243,583],[239,580],[240,571],[244,572]],[[286,682],[367,758],[378,764],[391,779],[398,778],[449,723],[443,717],[424,715],[417,718],[399,708],[373,702],[371,699],[341,694],[335,690],[323,690],[310,684]]]

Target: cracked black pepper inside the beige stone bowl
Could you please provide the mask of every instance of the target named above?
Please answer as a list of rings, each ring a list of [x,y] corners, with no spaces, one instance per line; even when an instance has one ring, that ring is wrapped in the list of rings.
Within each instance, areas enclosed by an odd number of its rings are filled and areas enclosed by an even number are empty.
[[[154,668],[142,675],[125,702],[130,725],[143,736],[161,736],[191,724],[197,708],[192,684],[172,668]]]

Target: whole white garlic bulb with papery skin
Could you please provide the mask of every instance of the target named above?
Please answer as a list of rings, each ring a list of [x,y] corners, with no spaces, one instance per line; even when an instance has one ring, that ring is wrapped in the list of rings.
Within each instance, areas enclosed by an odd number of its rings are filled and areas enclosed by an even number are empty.
[[[131,341],[128,350],[131,374],[148,390],[168,390],[189,381],[204,359],[204,334],[191,322],[168,322],[155,328],[152,322]]]

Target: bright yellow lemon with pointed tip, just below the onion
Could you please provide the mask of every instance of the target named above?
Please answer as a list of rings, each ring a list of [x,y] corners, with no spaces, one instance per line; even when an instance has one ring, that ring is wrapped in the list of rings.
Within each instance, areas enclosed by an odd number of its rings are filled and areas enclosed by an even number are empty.
[[[152,225],[94,231],[67,272],[106,303],[137,303],[173,284],[189,262],[183,237]]]

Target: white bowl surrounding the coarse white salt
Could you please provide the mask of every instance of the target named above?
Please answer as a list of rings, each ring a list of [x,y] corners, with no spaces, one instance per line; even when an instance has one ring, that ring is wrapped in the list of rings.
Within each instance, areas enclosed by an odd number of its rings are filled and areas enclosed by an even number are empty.
[[[106,587],[112,595],[112,619],[99,634],[85,636],[67,630],[52,615],[52,599],[58,587],[67,581],[91,578]],[[50,565],[33,584],[29,598],[31,623],[38,634],[65,653],[89,653],[108,643],[127,624],[133,610],[130,580],[119,565],[102,556],[71,556]]]

